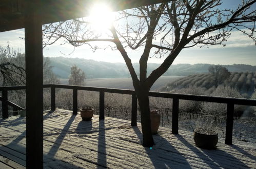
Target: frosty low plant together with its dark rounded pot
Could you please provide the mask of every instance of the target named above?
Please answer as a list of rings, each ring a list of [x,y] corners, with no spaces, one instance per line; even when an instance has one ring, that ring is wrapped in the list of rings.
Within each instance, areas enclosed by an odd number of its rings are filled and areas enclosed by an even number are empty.
[[[195,122],[195,145],[202,149],[216,149],[218,143],[217,127],[213,120],[200,119]]]

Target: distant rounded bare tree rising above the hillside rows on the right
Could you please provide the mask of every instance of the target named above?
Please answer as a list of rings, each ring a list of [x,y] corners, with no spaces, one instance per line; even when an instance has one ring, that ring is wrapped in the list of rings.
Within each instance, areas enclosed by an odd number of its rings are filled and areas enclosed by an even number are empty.
[[[221,83],[224,82],[231,73],[227,70],[227,68],[224,68],[220,65],[210,66],[208,71],[213,75],[215,88],[217,88]]]

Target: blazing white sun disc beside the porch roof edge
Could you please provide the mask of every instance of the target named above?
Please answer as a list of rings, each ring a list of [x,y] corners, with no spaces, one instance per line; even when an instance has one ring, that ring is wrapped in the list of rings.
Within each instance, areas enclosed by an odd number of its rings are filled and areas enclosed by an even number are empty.
[[[111,8],[106,4],[95,4],[89,14],[89,22],[92,28],[99,32],[105,33],[110,28],[114,21],[114,13]]]

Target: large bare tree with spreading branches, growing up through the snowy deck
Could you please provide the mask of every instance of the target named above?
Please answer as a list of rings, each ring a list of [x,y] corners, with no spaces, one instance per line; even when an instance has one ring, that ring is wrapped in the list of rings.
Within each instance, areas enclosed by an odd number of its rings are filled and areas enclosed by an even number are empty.
[[[111,48],[120,51],[130,72],[141,110],[143,145],[150,147],[154,142],[148,96],[153,83],[184,48],[225,46],[232,30],[241,31],[255,41],[255,9],[250,8],[255,1],[243,1],[235,10],[223,9],[221,0],[177,0],[134,8],[120,12],[119,25],[113,25],[104,35],[95,33],[86,18],[69,20],[44,27],[45,45],[63,38],[75,47],[87,44],[96,50],[99,47],[93,47],[92,41],[111,42]],[[126,48],[143,50],[139,78]],[[159,68],[147,74],[147,62],[152,55],[166,58]]]

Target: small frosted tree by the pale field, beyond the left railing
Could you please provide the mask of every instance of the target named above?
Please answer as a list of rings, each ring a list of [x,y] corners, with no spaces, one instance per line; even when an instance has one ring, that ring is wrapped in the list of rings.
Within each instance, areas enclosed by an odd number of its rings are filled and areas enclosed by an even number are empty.
[[[69,77],[69,85],[84,85],[85,81],[85,72],[82,71],[77,66],[72,66],[70,68],[70,77]]]

